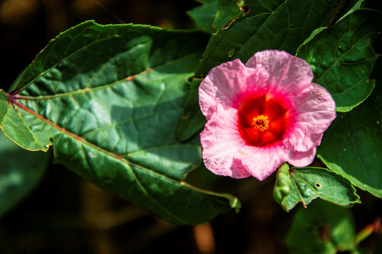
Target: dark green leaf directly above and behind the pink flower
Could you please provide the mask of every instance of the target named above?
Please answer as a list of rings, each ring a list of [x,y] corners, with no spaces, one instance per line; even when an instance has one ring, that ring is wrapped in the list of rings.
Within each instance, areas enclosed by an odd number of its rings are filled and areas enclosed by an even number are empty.
[[[347,6],[347,1],[341,0],[247,0],[238,5],[238,1],[219,1],[224,8],[219,10],[219,23],[223,28],[211,36],[202,62],[197,67],[197,78],[204,78],[211,68],[233,59],[245,63],[254,53],[265,49],[282,49],[295,54],[297,48],[311,33],[320,28],[328,20]],[[228,5],[229,3],[229,5]],[[337,5],[338,4],[338,5]],[[339,6],[339,8],[334,8]],[[229,8],[230,7],[230,8]],[[236,10],[236,11],[233,11]],[[238,10],[241,15],[238,17]],[[224,12],[226,11],[226,12]],[[228,17],[228,18],[227,18]],[[219,16],[216,16],[216,21]],[[230,18],[230,19],[229,19]],[[231,20],[232,22],[228,22]],[[226,23],[225,23],[226,22]],[[189,104],[197,103],[197,94],[190,94]],[[183,116],[183,126],[195,124],[190,119],[203,117],[196,112],[187,111]],[[202,129],[203,121],[198,120],[199,126],[190,129]],[[190,137],[195,133],[183,133]]]

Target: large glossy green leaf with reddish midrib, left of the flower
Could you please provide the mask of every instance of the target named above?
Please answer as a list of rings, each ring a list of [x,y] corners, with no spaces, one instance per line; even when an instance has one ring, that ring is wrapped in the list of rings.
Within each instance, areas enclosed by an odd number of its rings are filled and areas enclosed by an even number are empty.
[[[183,180],[199,141],[176,128],[207,37],[144,25],[72,28],[0,92],[1,129],[27,150],[53,145],[54,162],[169,222],[198,224],[231,207],[230,195]]]

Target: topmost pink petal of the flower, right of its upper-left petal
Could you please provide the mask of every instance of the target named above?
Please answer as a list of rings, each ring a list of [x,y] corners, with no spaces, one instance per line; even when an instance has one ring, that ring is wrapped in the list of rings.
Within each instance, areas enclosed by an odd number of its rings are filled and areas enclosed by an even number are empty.
[[[307,96],[313,73],[304,60],[287,52],[265,50],[257,52],[245,63],[250,68],[258,68],[259,65],[269,73],[269,96],[283,97],[292,105]]]

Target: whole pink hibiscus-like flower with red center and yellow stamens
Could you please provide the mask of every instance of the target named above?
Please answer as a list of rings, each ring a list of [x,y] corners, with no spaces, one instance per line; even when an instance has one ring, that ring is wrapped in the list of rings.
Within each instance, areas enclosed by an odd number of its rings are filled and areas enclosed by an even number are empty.
[[[312,163],[335,103],[302,59],[278,50],[212,68],[199,87],[203,161],[214,174],[260,181],[283,162]]]

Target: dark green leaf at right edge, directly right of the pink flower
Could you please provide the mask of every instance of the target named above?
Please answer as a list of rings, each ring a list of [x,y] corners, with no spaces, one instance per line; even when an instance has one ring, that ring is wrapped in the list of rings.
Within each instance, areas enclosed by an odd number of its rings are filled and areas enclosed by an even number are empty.
[[[324,133],[317,155],[338,174],[382,198],[382,116],[366,101],[340,113]]]

